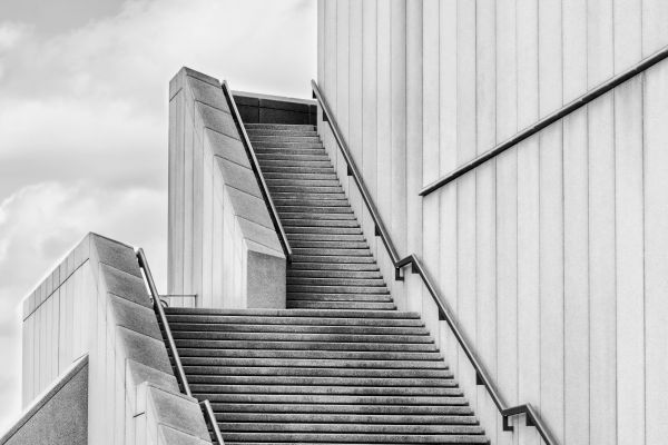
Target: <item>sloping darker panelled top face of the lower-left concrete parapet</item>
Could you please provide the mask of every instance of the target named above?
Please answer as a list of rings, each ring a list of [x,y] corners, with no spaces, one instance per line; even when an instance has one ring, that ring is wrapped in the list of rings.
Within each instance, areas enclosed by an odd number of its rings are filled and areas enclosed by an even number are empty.
[[[98,265],[92,268],[98,273],[98,291],[107,295],[107,323],[115,324],[117,359],[118,354],[125,356],[128,377],[126,398],[130,402],[141,399],[145,406],[150,406],[150,418],[157,422],[156,427],[170,425],[178,417],[183,434],[210,443],[197,400],[183,396],[178,390],[135,250],[95,234],[88,237],[90,260],[94,266]],[[121,350],[118,350],[119,346]],[[139,398],[137,394],[141,392],[140,387],[151,390],[145,392],[145,396]]]

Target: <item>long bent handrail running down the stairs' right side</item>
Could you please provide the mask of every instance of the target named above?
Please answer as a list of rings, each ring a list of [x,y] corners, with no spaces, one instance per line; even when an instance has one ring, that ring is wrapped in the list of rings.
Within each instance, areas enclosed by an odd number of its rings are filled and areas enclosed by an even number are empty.
[[[450,308],[448,303],[445,303],[445,299],[436,290],[436,287],[433,285],[433,281],[432,281],[430,275],[425,270],[424,266],[422,266],[422,263],[420,261],[420,259],[415,255],[409,255],[401,259],[399,258],[399,255],[396,254],[396,249],[394,248],[394,245],[392,244],[392,240],[390,239],[390,235],[389,235],[387,230],[385,229],[383,220],[382,220],[375,205],[373,204],[373,199],[371,198],[371,195],[369,194],[366,186],[364,185],[364,180],[362,179],[362,176],[360,175],[360,170],[357,169],[357,166],[355,165],[355,161],[353,160],[353,158],[351,156],[347,145],[345,144],[345,140],[343,138],[343,135],[341,135],[341,131],[338,130],[338,126],[336,125],[336,120],[334,119],[334,116],[332,115],[332,110],[330,109],[327,101],[325,100],[322,92],[320,91],[315,80],[311,81],[311,86],[313,89],[313,96],[315,99],[317,99],[317,101],[323,110],[323,120],[328,122],[330,128],[332,129],[332,134],[334,135],[334,139],[336,140],[336,144],[338,145],[338,149],[343,154],[343,157],[347,164],[348,175],[351,175],[353,177],[353,180],[355,181],[355,184],[357,185],[357,188],[360,189],[360,192],[362,194],[362,199],[363,199],[366,208],[369,209],[369,212],[371,214],[371,217],[375,225],[375,235],[381,237],[383,245],[385,246],[387,254],[390,255],[390,258],[392,259],[392,263],[394,265],[395,279],[402,279],[401,269],[409,265],[412,266],[413,274],[420,275],[420,277],[422,278],[422,283],[424,284],[424,286],[429,290],[430,295],[434,299],[436,306],[439,307],[439,318],[441,320],[444,320],[445,323],[448,323],[448,326],[450,326],[450,329],[454,334],[454,337],[456,338],[459,345],[461,346],[462,350],[464,352],[464,354],[471,362],[471,365],[473,366],[473,369],[475,370],[475,377],[477,377],[478,385],[482,385],[487,388],[488,393],[490,394],[490,397],[492,398],[492,400],[494,402],[494,405],[497,406],[497,409],[499,409],[499,413],[501,414],[501,416],[503,418],[503,431],[512,431],[513,427],[509,422],[510,417],[517,416],[520,414],[524,414],[527,416],[527,425],[536,426],[536,428],[538,429],[539,434],[541,435],[541,437],[543,438],[546,444],[557,445],[557,442],[554,441],[548,426],[542,422],[542,419],[540,418],[540,415],[536,412],[536,409],[530,404],[518,405],[518,406],[508,406],[505,404],[505,402],[503,400],[503,397],[501,396],[501,394],[499,393],[499,389],[497,388],[497,385],[494,384],[494,382],[490,377],[489,373],[484,368],[484,365],[478,357],[478,354],[475,354],[473,348],[470,346],[470,342],[466,338],[466,336],[464,335],[463,330],[461,329],[459,322],[456,320],[456,317],[454,316],[454,313],[452,312],[452,309]]]

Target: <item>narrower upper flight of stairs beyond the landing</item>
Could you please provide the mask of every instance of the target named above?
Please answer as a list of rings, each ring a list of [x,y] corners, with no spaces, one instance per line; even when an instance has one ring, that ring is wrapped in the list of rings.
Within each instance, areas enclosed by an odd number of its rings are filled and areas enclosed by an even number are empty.
[[[287,307],[396,307],[313,126],[246,125],[293,261]]]

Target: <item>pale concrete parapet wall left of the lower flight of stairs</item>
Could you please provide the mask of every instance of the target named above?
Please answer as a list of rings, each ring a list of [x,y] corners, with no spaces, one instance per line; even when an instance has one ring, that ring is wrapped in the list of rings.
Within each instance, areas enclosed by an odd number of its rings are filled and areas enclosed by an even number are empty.
[[[134,249],[95,234],[23,301],[23,406],[82,354],[88,443],[210,443],[174,377]]]

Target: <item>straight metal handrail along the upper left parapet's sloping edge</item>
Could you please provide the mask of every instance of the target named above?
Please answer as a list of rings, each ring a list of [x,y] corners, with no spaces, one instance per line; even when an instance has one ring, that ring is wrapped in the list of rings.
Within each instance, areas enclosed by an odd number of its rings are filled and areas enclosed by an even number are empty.
[[[262,192],[264,201],[267,206],[267,210],[269,210],[269,216],[272,217],[274,229],[278,234],[278,240],[281,241],[281,247],[283,247],[283,254],[285,255],[285,259],[287,260],[287,263],[291,263],[292,248],[289,247],[287,235],[285,235],[285,230],[283,229],[283,225],[281,224],[278,211],[276,211],[276,207],[274,206],[274,201],[272,200],[269,188],[267,187],[267,182],[265,181],[264,176],[262,174],[262,169],[259,168],[259,162],[257,161],[257,157],[255,156],[255,150],[253,149],[250,139],[248,139],[248,134],[246,132],[246,128],[244,127],[242,115],[239,115],[239,110],[234,100],[234,96],[232,95],[232,88],[229,88],[229,83],[227,83],[227,80],[223,81],[223,92],[225,93],[225,98],[227,99],[227,105],[229,106],[229,110],[232,111],[232,117],[234,118],[234,121],[237,126],[237,130],[242,135],[242,142],[244,144],[244,148],[246,149],[246,155],[248,156],[248,160],[250,161],[250,167],[253,169],[253,172],[255,174],[255,179],[259,184],[259,191]]]

